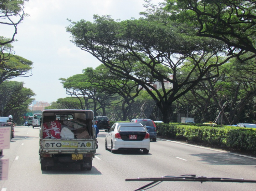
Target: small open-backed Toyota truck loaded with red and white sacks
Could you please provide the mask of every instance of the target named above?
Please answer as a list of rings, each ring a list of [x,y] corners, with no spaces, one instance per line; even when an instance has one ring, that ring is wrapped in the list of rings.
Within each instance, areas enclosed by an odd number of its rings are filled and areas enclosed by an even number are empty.
[[[81,170],[91,170],[97,145],[93,121],[91,110],[43,110],[39,135],[41,170],[58,163],[76,163]]]

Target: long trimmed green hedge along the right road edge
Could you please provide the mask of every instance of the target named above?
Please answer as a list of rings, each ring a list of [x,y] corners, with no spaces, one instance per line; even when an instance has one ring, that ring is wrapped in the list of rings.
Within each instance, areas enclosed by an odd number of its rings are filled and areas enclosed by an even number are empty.
[[[225,146],[256,154],[256,129],[243,127],[209,127],[180,123],[157,123],[157,135],[211,145]]]

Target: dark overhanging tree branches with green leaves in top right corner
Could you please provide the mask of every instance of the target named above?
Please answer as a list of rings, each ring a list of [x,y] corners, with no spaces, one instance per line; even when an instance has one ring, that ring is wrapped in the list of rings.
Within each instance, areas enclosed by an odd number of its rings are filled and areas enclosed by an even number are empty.
[[[197,28],[197,35],[222,40],[229,54],[256,56],[256,2],[250,0],[167,0],[173,19]]]

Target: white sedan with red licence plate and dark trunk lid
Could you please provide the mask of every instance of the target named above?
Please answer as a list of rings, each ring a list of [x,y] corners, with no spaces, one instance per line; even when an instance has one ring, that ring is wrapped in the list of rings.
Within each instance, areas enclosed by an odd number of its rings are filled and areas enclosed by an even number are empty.
[[[141,123],[114,123],[106,129],[105,149],[113,153],[116,150],[143,150],[148,154],[150,150],[150,135]]]

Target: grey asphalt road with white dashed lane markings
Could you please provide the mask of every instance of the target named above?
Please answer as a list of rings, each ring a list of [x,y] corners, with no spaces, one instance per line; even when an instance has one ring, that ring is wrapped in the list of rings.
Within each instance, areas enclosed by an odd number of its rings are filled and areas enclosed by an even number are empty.
[[[149,154],[105,150],[105,132],[98,135],[99,148],[91,171],[79,166],[57,165],[41,171],[39,161],[39,128],[15,127],[10,149],[8,180],[0,181],[0,191],[128,191],[148,182],[125,181],[127,178],[162,177],[195,174],[206,177],[228,177],[256,180],[256,158],[239,156],[209,148],[158,139],[151,142]],[[216,191],[256,190],[253,183],[163,182],[153,190]]]

